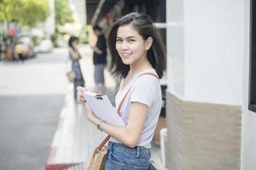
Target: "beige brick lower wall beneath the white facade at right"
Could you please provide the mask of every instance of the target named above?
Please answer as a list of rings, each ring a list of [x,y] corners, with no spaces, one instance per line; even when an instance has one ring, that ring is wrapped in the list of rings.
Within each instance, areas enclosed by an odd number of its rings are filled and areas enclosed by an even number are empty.
[[[239,170],[241,107],[189,102],[166,92],[169,170]]]

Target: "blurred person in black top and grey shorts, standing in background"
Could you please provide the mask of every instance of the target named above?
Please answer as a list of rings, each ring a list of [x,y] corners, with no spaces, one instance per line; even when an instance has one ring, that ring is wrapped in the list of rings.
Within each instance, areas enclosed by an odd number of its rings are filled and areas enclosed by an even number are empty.
[[[104,69],[107,65],[107,41],[100,26],[93,26],[93,31],[97,37],[96,46],[92,47],[96,93],[104,94],[106,90]]]

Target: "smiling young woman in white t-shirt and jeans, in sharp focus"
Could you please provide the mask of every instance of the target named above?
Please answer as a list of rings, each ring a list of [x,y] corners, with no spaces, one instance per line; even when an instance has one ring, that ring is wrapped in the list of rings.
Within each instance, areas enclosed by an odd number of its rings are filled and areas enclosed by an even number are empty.
[[[113,23],[108,47],[110,69],[122,78],[115,102],[117,108],[121,105],[119,115],[126,126],[102,122],[92,111],[87,111],[87,116],[111,136],[106,169],[148,169],[150,143],[161,109],[159,78],[166,69],[164,44],[148,15],[131,13]],[[82,102],[80,94],[86,89],[78,90]]]

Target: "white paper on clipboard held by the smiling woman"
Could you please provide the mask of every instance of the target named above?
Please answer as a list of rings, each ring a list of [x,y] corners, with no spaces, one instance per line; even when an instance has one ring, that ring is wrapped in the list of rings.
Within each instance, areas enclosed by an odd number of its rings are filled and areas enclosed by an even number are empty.
[[[86,91],[83,93],[84,99],[90,105],[90,109],[102,121],[109,124],[125,127],[125,122],[117,113],[115,107],[111,104],[107,95],[97,95],[95,93]]]

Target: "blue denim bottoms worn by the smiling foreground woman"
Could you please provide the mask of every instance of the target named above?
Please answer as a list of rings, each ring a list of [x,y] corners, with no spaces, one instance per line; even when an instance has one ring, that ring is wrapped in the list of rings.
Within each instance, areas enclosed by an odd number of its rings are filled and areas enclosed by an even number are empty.
[[[149,167],[150,149],[136,146],[129,148],[125,144],[108,143],[108,156],[105,170],[145,170]]]

